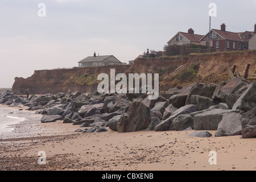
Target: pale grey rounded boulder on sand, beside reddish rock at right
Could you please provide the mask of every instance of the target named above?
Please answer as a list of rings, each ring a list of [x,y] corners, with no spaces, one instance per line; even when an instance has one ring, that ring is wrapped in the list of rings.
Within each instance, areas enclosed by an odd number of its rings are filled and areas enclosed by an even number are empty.
[[[215,137],[227,137],[242,134],[242,125],[239,114],[228,113],[222,117],[221,122],[218,124]]]

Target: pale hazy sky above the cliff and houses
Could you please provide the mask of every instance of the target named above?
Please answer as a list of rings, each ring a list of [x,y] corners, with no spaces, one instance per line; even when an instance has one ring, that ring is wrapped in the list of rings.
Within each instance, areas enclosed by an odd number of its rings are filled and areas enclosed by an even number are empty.
[[[35,70],[78,67],[94,52],[127,63],[163,51],[179,31],[205,35],[210,3],[212,28],[254,30],[256,0],[0,0],[0,88]]]

